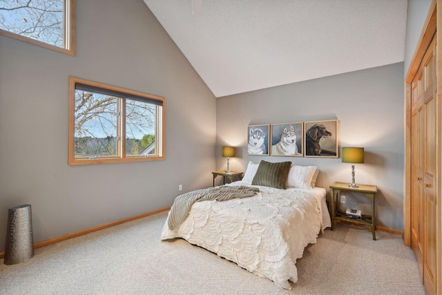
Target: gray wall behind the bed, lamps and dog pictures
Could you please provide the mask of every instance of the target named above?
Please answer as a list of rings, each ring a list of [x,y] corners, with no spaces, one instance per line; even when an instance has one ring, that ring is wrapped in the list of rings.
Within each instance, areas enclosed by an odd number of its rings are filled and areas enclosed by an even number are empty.
[[[244,171],[249,161],[289,160],[320,169],[318,187],[349,182],[351,165],[340,158],[247,155],[247,126],[334,120],[340,122],[339,146],[365,148],[365,163],[356,164],[356,182],[376,184],[377,225],[403,230],[403,63],[267,88],[217,99],[217,167],[223,145],[237,147],[231,170]],[[348,199],[348,198],[347,198]],[[355,201],[367,211],[361,198]]]

